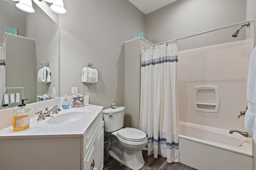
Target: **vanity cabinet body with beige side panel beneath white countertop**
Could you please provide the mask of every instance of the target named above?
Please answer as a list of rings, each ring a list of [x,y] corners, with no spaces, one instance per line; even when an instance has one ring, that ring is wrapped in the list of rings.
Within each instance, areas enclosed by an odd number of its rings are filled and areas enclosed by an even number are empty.
[[[86,120],[90,123],[85,122],[88,125],[84,133],[52,135],[52,128],[60,128],[60,125],[44,127],[44,135],[6,137],[1,136],[0,131],[0,170],[102,170],[104,149],[102,108],[100,107],[100,112],[93,115],[95,118]],[[82,129],[83,124],[76,123],[76,128]],[[30,127],[28,131],[40,133],[42,126],[38,129]],[[67,125],[61,128],[60,131],[68,131]],[[5,129],[5,133],[17,134],[11,127]]]

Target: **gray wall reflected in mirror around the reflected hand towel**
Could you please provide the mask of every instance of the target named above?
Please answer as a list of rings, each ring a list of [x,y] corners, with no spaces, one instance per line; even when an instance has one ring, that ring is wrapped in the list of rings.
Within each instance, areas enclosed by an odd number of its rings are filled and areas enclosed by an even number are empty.
[[[33,8],[36,12],[27,14],[26,37],[33,38],[36,43],[36,76],[37,71],[46,66],[41,63],[49,63],[51,70],[50,83],[40,83],[35,78],[36,93],[51,95],[54,87],[59,96],[59,27],[36,4]]]

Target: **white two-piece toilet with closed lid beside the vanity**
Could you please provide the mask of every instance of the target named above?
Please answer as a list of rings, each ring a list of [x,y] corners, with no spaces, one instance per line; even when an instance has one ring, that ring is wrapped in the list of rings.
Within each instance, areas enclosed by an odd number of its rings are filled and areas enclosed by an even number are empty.
[[[139,129],[124,126],[125,107],[103,110],[105,131],[111,132],[110,156],[133,170],[142,168],[145,161],[142,149],[147,144],[146,134]]]

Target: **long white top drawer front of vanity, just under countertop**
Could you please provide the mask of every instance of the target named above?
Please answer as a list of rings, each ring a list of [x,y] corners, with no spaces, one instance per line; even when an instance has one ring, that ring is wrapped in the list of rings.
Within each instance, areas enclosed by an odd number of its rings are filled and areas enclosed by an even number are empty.
[[[92,145],[93,141],[96,137],[96,132],[100,124],[102,123],[103,115],[102,111],[97,115],[97,117],[94,119],[92,124],[88,127],[86,130],[84,136],[81,138],[81,160],[83,160],[88,154],[88,149],[90,148],[90,145]]]

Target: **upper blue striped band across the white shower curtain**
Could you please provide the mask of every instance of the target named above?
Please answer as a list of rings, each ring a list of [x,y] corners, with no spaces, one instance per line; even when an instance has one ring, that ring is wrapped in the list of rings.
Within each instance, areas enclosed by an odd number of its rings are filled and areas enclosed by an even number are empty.
[[[171,63],[171,62],[178,62],[178,56],[174,55],[174,56],[164,56],[164,57],[160,57],[157,59],[150,59],[147,61],[142,61],[141,62],[141,66],[145,67],[145,66],[149,66],[149,65],[156,65],[156,64],[160,64],[160,63]]]

